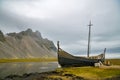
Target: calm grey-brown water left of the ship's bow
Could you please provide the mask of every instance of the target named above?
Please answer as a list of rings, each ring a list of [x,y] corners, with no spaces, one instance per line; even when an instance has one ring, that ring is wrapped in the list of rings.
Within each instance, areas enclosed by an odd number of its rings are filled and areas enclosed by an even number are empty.
[[[0,78],[11,74],[23,75],[24,73],[47,72],[56,68],[58,68],[57,62],[0,63]]]

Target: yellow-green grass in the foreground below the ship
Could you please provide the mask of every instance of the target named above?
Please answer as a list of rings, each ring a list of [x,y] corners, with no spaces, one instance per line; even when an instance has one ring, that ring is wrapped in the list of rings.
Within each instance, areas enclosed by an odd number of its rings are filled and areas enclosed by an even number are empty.
[[[98,68],[98,67],[70,67],[56,70],[62,75],[74,75],[85,80],[104,80],[107,78],[120,77],[120,68]],[[54,76],[55,77],[55,76]]]

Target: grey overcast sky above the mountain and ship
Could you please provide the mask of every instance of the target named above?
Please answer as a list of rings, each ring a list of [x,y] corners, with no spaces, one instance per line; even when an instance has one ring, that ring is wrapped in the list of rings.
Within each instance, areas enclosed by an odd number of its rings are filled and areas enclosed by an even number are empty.
[[[0,0],[4,33],[38,30],[75,55],[87,53],[90,20],[91,54],[107,48],[120,57],[120,0]]]

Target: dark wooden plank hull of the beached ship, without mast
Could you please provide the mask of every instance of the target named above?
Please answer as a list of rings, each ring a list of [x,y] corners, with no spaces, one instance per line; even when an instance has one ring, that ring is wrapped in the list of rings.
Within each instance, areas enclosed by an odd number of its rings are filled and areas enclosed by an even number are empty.
[[[90,59],[86,57],[76,57],[63,50],[58,52],[58,62],[62,67],[68,66],[94,66],[97,62],[104,62],[103,58],[100,59]]]

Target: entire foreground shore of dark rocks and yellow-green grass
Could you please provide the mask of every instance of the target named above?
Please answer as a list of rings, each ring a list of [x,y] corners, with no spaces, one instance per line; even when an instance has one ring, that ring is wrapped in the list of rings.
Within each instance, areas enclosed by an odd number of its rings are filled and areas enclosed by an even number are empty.
[[[25,73],[22,76],[9,75],[0,80],[120,80],[120,66],[58,68],[49,72]]]

